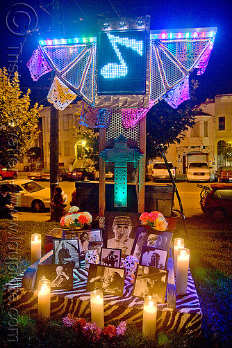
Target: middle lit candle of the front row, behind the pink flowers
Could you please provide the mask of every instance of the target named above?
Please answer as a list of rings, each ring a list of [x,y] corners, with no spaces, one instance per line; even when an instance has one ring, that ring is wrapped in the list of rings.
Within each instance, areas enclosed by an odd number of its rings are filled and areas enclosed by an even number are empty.
[[[104,310],[103,310],[103,293],[100,290],[94,290],[90,294],[91,321],[95,322],[103,329],[104,327]]]

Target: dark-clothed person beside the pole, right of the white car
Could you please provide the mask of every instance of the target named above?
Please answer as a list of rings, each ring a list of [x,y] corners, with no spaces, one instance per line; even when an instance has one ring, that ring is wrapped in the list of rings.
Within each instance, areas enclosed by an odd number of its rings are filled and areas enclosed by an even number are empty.
[[[60,221],[62,216],[65,215],[65,202],[67,195],[64,194],[61,187],[56,186],[54,189],[53,198],[51,199],[51,220]]]

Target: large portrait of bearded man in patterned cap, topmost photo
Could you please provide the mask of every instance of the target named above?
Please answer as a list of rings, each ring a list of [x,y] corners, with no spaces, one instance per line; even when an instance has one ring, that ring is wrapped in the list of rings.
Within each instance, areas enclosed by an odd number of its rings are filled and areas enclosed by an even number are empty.
[[[106,212],[105,246],[122,250],[122,256],[130,255],[138,226],[140,214],[126,212]]]

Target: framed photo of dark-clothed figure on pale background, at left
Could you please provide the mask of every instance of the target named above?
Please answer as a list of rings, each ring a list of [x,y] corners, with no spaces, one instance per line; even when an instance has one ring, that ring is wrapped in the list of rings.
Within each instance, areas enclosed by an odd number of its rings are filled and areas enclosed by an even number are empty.
[[[53,262],[80,268],[78,239],[53,239]]]

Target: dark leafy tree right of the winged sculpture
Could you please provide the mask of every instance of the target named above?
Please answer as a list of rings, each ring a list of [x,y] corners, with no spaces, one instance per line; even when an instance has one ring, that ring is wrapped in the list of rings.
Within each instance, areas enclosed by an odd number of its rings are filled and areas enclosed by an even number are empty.
[[[173,109],[162,100],[147,113],[147,160],[160,157],[159,145],[167,151],[170,144],[181,143],[184,131],[195,124],[195,116],[206,115],[197,109],[194,92],[198,82],[190,84],[190,100],[183,102],[178,109]]]

